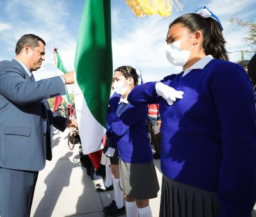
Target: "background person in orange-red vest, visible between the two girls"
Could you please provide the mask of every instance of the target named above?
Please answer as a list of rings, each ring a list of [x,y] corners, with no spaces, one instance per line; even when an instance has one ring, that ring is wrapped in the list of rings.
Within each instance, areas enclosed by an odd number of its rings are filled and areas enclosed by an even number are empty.
[[[150,133],[150,141],[154,146],[156,153],[153,154],[154,159],[160,158],[161,152],[161,117],[159,114],[159,104],[148,105],[148,130]]]

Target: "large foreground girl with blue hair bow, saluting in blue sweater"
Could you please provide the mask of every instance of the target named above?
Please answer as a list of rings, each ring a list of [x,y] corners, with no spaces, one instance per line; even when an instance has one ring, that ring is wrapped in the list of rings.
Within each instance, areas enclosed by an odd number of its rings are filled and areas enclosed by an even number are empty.
[[[159,103],[160,216],[249,217],[255,204],[256,126],[250,80],[228,62],[207,8],[170,24],[166,57],[181,73],[135,87],[134,106]]]

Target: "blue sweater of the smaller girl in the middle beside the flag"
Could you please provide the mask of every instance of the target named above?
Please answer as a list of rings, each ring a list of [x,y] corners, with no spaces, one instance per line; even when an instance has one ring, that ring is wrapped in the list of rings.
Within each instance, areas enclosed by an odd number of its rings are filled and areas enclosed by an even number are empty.
[[[108,115],[109,131],[116,135],[120,157],[127,163],[149,163],[153,160],[148,142],[146,105],[134,107],[131,103],[124,108],[120,116],[118,113],[122,103]]]

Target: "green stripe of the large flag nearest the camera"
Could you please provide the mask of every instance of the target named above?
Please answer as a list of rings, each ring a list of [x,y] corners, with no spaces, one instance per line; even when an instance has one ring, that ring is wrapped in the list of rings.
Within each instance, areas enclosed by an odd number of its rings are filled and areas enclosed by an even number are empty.
[[[110,0],[84,1],[75,70],[90,112],[106,127],[113,73]]]

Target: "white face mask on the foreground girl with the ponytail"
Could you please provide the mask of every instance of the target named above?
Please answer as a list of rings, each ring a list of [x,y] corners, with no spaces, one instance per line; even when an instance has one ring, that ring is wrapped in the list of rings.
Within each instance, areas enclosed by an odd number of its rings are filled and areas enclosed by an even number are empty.
[[[175,66],[184,66],[187,63],[188,58],[191,54],[190,50],[193,49],[194,45],[189,50],[182,50],[180,48],[180,45],[182,41],[186,40],[192,34],[189,34],[188,36],[186,36],[186,38],[182,39],[181,41],[174,41],[173,43],[166,45],[165,54],[166,58],[170,63],[172,63]]]

